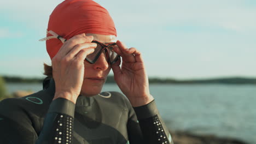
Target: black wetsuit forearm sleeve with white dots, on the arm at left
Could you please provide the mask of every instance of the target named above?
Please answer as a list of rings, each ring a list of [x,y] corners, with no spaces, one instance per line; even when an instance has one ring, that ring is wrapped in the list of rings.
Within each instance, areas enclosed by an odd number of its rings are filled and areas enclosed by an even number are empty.
[[[75,105],[63,98],[53,100],[36,144],[72,143]]]

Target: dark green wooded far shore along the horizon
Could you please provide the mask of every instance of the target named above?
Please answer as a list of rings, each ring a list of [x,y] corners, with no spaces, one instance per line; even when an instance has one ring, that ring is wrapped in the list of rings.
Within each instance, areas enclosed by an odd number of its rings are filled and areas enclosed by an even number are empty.
[[[3,76],[5,82],[15,83],[42,83],[44,78],[22,78],[22,77],[10,77]],[[114,76],[109,75],[106,83],[115,83]],[[149,83],[172,83],[172,84],[256,84],[256,79],[244,78],[244,77],[228,77],[228,78],[216,78],[216,79],[201,79],[201,80],[176,80],[176,79],[161,79],[158,77],[150,77]]]

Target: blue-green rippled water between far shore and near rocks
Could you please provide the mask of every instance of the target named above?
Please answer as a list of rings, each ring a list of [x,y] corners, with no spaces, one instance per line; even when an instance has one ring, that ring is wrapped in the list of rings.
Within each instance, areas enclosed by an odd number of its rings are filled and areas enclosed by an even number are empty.
[[[42,84],[7,83],[8,91],[37,92]],[[106,84],[103,91],[120,91]],[[150,93],[170,130],[211,134],[256,143],[256,85],[152,84]]]

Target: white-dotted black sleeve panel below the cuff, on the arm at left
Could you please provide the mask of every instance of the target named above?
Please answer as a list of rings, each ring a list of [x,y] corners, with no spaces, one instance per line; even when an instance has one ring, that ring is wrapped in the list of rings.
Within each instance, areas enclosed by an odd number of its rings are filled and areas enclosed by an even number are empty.
[[[57,115],[54,144],[71,144],[73,136],[74,118],[65,114]]]

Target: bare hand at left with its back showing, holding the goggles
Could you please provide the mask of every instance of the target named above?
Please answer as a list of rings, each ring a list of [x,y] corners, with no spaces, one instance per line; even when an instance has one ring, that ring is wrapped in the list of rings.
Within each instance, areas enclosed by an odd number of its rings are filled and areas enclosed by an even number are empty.
[[[55,81],[54,99],[65,98],[74,104],[84,81],[84,59],[94,52],[94,38],[78,34],[67,40],[59,52],[51,59]]]

